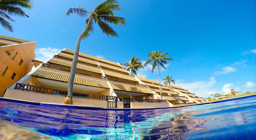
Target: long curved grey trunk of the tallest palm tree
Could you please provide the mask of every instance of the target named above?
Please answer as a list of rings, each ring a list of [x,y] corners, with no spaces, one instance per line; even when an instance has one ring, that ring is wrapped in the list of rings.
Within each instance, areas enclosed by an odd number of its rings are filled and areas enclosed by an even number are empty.
[[[86,31],[88,30],[91,21],[92,21],[92,17],[89,18],[86,27],[79,34],[79,36],[77,38],[75,51],[74,51],[74,56],[73,56],[73,61],[72,61],[72,65],[71,65],[71,71],[70,71],[70,75],[69,75],[69,79],[68,79],[68,96],[70,96],[71,101],[72,101],[72,95],[73,95],[73,84],[74,84],[74,79],[75,79],[75,74],[76,74],[77,59],[78,59],[78,52],[79,52],[80,42],[81,42],[81,39],[82,39],[84,33],[86,33]],[[73,101],[71,102],[71,104],[73,104]]]

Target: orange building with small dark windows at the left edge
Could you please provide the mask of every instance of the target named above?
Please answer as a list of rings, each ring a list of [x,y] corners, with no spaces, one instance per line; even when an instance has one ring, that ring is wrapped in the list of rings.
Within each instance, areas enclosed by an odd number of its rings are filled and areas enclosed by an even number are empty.
[[[0,96],[31,71],[35,48],[36,42],[0,35]]]

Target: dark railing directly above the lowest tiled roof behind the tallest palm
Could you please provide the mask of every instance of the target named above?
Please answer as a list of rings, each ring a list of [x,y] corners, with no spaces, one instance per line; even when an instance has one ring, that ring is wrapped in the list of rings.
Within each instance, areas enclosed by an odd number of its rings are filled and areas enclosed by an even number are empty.
[[[45,63],[42,63],[42,67],[58,69],[60,71],[65,71],[65,72],[70,72],[71,71],[70,67],[66,68],[66,67],[61,67],[61,66],[56,66],[56,65],[51,65],[51,64],[45,64]],[[78,71],[78,70],[76,70],[76,74],[85,75],[85,76],[91,76],[91,77],[96,77],[96,78],[101,78],[101,79],[106,79],[105,76],[91,74],[91,73],[82,72],[82,71]]]

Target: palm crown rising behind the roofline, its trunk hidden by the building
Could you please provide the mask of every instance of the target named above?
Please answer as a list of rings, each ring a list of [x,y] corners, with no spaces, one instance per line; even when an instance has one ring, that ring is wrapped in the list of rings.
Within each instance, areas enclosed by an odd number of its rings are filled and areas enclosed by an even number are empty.
[[[131,74],[137,75],[137,70],[140,68],[144,68],[142,62],[138,62],[140,59],[140,57],[135,58],[135,56],[133,56],[130,62],[121,63],[121,65],[127,66],[127,71],[131,70]]]

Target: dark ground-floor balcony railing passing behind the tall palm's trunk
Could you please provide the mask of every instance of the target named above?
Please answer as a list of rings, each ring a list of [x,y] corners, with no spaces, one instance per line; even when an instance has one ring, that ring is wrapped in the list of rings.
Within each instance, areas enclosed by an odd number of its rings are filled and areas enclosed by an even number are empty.
[[[38,87],[33,85],[21,84],[21,83],[16,83],[14,89],[37,92],[42,94],[58,95],[58,96],[67,96],[68,94],[68,91],[65,91],[65,90]],[[73,92],[73,97],[85,98],[85,99],[100,99],[100,100],[108,100],[110,98],[116,98],[115,96],[108,97],[105,95],[87,94],[87,93],[80,93],[80,92]]]

